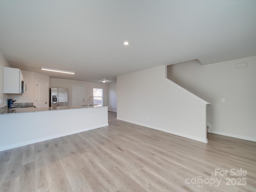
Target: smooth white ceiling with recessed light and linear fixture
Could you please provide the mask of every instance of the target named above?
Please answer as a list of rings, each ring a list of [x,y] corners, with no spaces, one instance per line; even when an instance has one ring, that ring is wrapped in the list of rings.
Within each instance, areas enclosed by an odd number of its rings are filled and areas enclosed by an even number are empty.
[[[256,1],[1,0],[0,51],[12,67],[89,82],[194,59],[255,56]]]

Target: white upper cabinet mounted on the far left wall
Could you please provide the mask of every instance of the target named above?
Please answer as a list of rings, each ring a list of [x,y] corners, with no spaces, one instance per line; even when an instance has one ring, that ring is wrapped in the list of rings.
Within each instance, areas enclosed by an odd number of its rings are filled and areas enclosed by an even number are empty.
[[[4,93],[21,94],[23,80],[20,69],[4,67]]]

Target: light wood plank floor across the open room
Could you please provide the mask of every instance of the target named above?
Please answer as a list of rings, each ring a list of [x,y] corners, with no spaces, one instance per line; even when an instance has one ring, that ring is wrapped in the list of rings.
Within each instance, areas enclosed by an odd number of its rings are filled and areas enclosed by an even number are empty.
[[[208,140],[123,122],[109,112],[109,126],[0,152],[0,192],[255,192],[256,142],[216,134]],[[215,168],[247,174],[215,176]],[[191,183],[200,178],[202,185]],[[232,185],[240,178],[246,185]]]

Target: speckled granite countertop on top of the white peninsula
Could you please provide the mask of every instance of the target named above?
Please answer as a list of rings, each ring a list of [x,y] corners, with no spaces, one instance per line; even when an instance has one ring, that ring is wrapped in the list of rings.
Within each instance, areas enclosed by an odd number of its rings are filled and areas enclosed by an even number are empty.
[[[32,106],[32,107],[24,107],[24,108],[0,108],[0,115],[15,114],[15,113],[42,112],[42,111],[83,109],[83,108],[97,108],[97,107],[108,107],[108,106],[94,105],[94,106],[44,107],[44,108],[35,108],[34,106]]]

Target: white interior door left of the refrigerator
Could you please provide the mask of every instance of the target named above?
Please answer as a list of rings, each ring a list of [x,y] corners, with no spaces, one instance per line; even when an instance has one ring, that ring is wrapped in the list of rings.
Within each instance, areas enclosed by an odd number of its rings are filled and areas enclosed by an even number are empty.
[[[36,81],[36,107],[48,107],[48,82]]]

